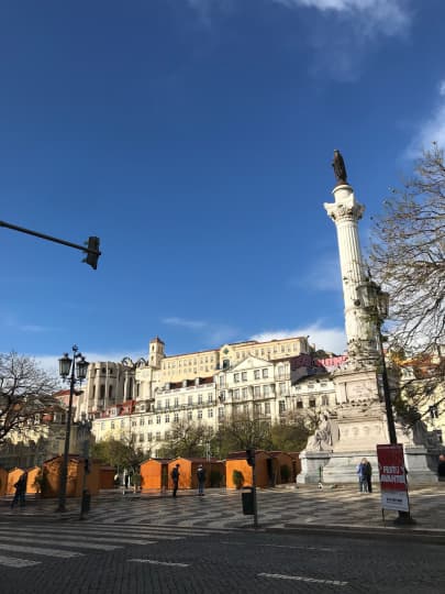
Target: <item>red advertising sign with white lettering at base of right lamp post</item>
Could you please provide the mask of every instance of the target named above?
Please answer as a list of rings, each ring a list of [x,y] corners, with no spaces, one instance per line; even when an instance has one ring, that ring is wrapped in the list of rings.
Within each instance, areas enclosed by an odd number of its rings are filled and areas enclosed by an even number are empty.
[[[377,446],[379,464],[381,507],[409,512],[407,473],[404,469],[403,446]]]

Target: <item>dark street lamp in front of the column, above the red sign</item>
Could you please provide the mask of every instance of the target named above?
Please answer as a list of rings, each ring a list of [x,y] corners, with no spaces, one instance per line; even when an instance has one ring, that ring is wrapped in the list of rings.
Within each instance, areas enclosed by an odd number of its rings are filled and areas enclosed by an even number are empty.
[[[381,287],[374,280],[358,285],[358,298],[363,307],[370,312],[372,320],[376,322],[376,339],[377,349],[380,356],[381,365],[381,382],[383,385],[385,408],[387,413],[388,435],[391,444],[397,443],[394,415],[392,413],[391,393],[389,389],[388,370],[385,360],[383,339],[381,336],[381,327],[385,319],[388,317],[389,310],[389,294],[381,290]]]

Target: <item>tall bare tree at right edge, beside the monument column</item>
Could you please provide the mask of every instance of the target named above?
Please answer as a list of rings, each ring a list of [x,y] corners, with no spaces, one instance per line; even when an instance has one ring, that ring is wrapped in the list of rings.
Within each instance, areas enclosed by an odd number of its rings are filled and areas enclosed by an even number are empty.
[[[391,346],[404,359],[415,355],[420,366],[440,380],[445,344],[445,163],[437,144],[423,153],[403,188],[385,201],[374,231],[370,262],[390,294]]]

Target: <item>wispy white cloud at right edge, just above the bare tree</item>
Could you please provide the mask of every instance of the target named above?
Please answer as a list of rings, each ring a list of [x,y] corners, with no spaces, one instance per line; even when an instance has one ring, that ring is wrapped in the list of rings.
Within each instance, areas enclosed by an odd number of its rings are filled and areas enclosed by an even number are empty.
[[[408,146],[405,156],[408,158],[420,156],[424,148],[431,146],[432,142],[436,142],[438,146],[445,148],[445,80],[440,81],[432,113],[419,123],[418,132]]]

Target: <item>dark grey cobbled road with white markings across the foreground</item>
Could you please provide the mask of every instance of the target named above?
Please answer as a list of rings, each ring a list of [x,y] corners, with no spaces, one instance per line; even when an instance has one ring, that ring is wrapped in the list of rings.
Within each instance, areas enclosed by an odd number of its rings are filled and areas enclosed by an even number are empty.
[[[15,520],[0,525],[0,593],[441,594],[444,552],[390,537]]]

